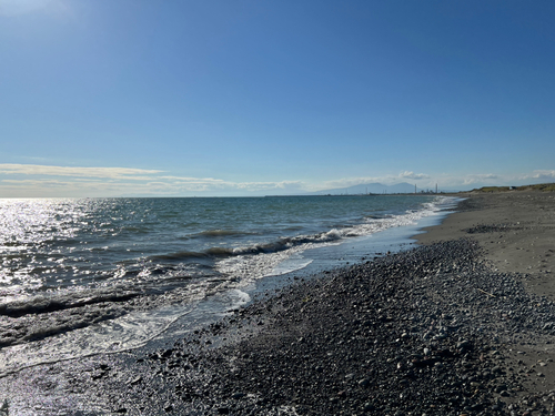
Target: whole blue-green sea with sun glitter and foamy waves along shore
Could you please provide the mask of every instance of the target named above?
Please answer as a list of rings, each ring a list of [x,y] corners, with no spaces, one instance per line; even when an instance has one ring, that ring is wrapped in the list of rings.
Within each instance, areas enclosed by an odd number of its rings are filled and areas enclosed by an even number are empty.
[[[347,253],[349,243],[415,226],[455,202],[436,195],[0,200],[0,376],[140,347],[172,325],[184,333],[249,302],[258,282],[314,266],[317,250]]]

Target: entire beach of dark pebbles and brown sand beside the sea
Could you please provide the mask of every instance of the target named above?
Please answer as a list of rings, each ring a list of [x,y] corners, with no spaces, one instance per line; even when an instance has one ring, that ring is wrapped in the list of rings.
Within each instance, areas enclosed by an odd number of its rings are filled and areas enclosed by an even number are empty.
[[[467,196],[415,248],[299,280],[171,347],[4,377],[0,414],[551,414],[554,194]]]

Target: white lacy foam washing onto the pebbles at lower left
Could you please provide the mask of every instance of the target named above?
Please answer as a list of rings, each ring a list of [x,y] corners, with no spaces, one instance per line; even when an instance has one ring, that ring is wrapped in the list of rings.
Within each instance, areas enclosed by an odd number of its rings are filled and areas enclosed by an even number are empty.
[[[40,325],[36,325],[37,331],[32,335],[40,337],[42,333],[51,336],[0,348],[0,377],[40,364],[120,353],[144,346],[184,316],[192,315],[190,321],[202,321],[210,314],[221,316],[249,303],[250,295],[238,286],[239,282],[234,281],[205,280],[172,293],[171,298],[165,300],[170,305],[163,305],[163,300],[158,300],[162,306],[125,313],[99,323],[93,323],[93,317],[102,318],[107,313],[114,313],[113,307],[107,310],[105,306],[93,305],[92,311],[83,312],[83,317],[74,315],[70,310],[56,315],[49,314]],[[67,331],[64,323],[69,318],[73,331]],[[82,327],[79,327],[80,319],[83,321]],[[6,321],[3,323],[7,324]],[[174,336],[179,334],[183,334],[183,328],[173,333]]]

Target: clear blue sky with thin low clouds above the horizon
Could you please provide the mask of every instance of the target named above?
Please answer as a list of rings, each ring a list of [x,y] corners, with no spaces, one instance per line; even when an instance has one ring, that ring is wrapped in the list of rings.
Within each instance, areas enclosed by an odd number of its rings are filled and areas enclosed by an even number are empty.
[[[555,2],[0,0],[0,197],[555,181]]]

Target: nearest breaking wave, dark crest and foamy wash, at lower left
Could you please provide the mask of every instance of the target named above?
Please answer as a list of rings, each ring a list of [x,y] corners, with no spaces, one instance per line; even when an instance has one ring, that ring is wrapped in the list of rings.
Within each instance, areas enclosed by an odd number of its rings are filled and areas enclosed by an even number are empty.
[[[46,317],[38,325],[29,325],[26,328],[28,331],[0,337],[0,378],[37,365],[135,349],[157,337],[163,337],[173,323],[186,315],[192,316],[191,321],[174,331],[179,334],[193,331],[199,323],[199,308],[212,311],[216,307],[215,317],[220,312],[225,314],[223,311],[234,310],[251,300],[248,293],[234,287],[214,292],[214,296],[206,297],[210,292],[208,283],[183,288],[175,294],[175,303],[150,298],[149,304],[150,301],[153,304],[147,308],[111,306],[84,310],[77,315],[53,314],[57,316]],[[210,316],[205,318],[206,322],[212,319]],[[34,317],[29,321],[34,322]],[[0,321],[0,333],[11,326],[4,324]]]

